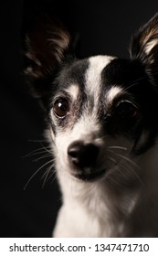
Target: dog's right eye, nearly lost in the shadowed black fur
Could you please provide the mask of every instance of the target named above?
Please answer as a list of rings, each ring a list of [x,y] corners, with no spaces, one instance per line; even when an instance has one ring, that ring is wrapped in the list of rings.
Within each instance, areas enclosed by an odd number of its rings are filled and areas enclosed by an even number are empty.
[[[131,101],[121,101],[116,107],[116,114],[120,118],[133,118],[138,114],[138,108]]]

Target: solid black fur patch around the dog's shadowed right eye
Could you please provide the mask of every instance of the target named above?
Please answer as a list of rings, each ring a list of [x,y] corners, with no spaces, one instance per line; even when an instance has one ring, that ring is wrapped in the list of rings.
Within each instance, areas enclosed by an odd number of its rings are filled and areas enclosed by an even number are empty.
[[[112,86],[121,86],[124,91],[123,96],[114,99],[112,109],[106,106],[105,129],[106,133],[131,137],[135,140],[135,154],[146,151],[155,142],[157,135],[157,109],[158,109],[158,90],[155,88],[145,72],[139,60],[113,59],[101,73],[102,88],[104,96],[100,96],[100,109],[103,109],[103,101],[107,91]],[[115,106],[119,101],[133,101],[138,106],[139,116],[133,120],[122,121],[115,112]],[[104,101],[105,104],[105,101]],[[103,113],[101,112],[101,119]],[[136,146],[142,131],[148,131],[148,137],[139,148]],[[133,149],[134,150],[134,149]]]

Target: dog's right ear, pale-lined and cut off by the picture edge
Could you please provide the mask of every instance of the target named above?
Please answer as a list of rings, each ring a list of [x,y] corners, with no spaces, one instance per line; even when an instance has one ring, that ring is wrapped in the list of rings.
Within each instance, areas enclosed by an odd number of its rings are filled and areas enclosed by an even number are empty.
[[[158,13],[132,37],[130,53],[153,75],[158,72]]]

